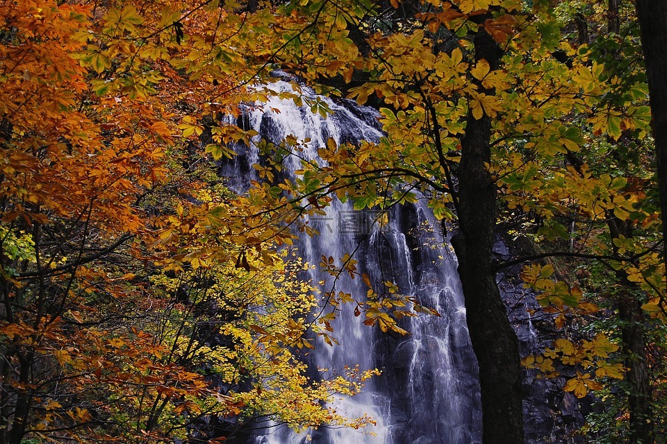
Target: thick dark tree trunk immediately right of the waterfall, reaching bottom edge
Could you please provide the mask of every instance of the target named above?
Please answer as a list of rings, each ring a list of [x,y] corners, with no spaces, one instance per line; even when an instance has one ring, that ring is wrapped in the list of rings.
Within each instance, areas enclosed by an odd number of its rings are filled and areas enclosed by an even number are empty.
[[[491,69],[496,69],[502,56],[496,42],[485,31],[478,31],[474,42],[475,58],[486,59]],[[477,120],[468,112],[458,170],[461,232],[452,243],[459,257],[468,330],[479,363],[482,441],[522,444],[518,339],[507,318],[492,264],[497,189],[485,165],[491,160],[490,138],[491,119],[485,115]]]

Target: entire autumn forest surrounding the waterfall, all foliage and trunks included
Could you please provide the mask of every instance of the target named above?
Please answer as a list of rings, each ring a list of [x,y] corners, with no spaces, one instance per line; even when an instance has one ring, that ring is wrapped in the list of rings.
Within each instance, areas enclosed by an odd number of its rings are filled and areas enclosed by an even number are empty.
[[[520,363],[575,369],[563,389],[607,412],[584,439],[664,442],[667,11],[648,3],[1,1],[0,442],[372,424],[327,402],[376,372],[308,379],[304,352],[344,341],[343,305],[388,334],[435,313],[389,284],[320,294],[299,271],[365,280],[359,258],[302,264],[293,227],[413,190],[456,225],[484,443],[524,441]],[[266,101],[275,69],[377,106],[386,136],[330,142],[293,182],[299,143],[261,144],[237,196],[215,161],[257,135],[221,117]],[[494,262],[498,233],[534,254]],[[495,274],[524,262],[559,338],[521,359]]]

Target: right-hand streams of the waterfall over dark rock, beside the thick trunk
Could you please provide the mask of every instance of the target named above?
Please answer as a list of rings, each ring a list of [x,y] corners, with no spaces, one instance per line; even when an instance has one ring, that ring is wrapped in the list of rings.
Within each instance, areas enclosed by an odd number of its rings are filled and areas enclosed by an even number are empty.
[[[397,207],[373,233],[365,258],[382,276],[416,296],[440,317],[411,318],[411,336],[380,356],[391,393],[391,443],[479,442],[477,364],[470,346],[456,257],[424,201]],[[390,259],[388,261],[387,259]],[[395,385],[394,385],[395,384]]]

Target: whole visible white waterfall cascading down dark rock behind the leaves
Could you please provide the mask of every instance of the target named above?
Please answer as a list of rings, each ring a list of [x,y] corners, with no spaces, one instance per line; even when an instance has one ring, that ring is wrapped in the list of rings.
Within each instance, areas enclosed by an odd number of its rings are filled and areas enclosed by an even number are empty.
[[[270,87],[276,92],[293,92],[289,82],[278,80]],[[320,100],[331,110],[329,117],[295,105],[289,99],[272,97],[266,103],[249,108],[244,126],[256,130],[270,142],[279,143],[291,135],[309,140],[302,155],[320,162],[318,148],[332,137],[337,144],[377,141],[377,111],[360,107],[352,101],[332,101],[316,96],[306,87],[302,94],[308,101]],[[242,188],[240,178],[258,162],[258,151],[247,147],[244,155],[222,165],[221,173],[237,178],[232,185]],[[294,160],[284,165],[291,174],[299,168]],[[339,398],[340,413],[377,420],[364,432],[354,429],[318,429],[295,434],[276,427],[254,438],[256,444],[472,444],[481,441],[481,414],[477,364],[466,326],[461,284],[456,273],[456,257],[424,200],[394,207],[388,223],[379,226],[373,212],[354,212],[334,200],[325,216],[308,221],[320,231],[316,237],[302,236],[297,248],[310,264],[320,257],[336,259],[356,251],[361,271],[375,284],[392,281],[404,294],[413,295],[422,305],[436,309],[438,316],[407,318],[401,324],[410,336],[378,332],[363,325],[353,307],[343,307],[336,319],[335,336],[340,345],[316,345],[311,353],[313,368],[336,371],[344,365],[359,364],[362,370],[380,368],[363,392],[352,398]],[[323,292],[333,285],[331,277],[311,271],[314,282],[323,281]],[[340,278],[336,291],[363,298],[367,287],[360,278]],[[368,434],[371,432],[373,435]]]

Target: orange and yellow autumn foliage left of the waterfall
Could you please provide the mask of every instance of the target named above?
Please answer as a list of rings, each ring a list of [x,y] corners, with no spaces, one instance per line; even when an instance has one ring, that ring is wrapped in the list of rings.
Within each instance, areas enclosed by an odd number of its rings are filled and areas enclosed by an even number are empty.
[[[369,374],[313,382],[290,352],[312,347],[317,293],[273,252],[290,234],[249,231],[252,205],[208,161],[190,165],[199,117],[238,112],[232,85],[257,74],[224,49],[254,32],[233,24],[267,17],[217,2],[0,4],[1,442],[370,421],[323,405]],[[213,134],[207,151],[232,137]]]

